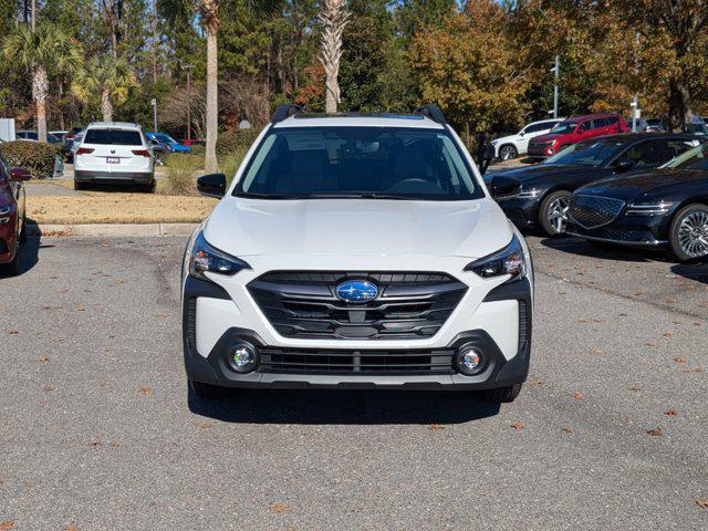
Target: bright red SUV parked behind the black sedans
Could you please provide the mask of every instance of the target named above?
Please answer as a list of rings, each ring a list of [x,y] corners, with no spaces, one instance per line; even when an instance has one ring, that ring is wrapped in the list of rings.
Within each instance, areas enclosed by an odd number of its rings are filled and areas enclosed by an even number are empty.
[[[629,126],[618,114],[573,116],[558,124],[548,135],[532,138],[529,142],[529,157],[550,157],[580,140],[628,132]]]

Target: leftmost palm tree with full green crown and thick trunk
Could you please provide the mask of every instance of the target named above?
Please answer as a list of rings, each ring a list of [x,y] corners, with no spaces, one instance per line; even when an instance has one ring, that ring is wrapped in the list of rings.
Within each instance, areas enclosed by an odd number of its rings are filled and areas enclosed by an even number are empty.
[[[32,98],[37,105],[37,132],[46,142],[46,95],[49,76],[70,73],[82,63],[79,42],[55,24],[44,22],[34,30],[18,25],[2,45],[4,59],[32,74]]]

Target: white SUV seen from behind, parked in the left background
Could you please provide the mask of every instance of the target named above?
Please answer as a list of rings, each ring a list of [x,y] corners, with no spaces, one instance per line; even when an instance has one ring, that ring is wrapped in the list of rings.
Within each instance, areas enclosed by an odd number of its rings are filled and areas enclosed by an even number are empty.
[[[74,152],[74,188],[90,183],[138,185],[145,191],[155,186],[152,144],[137,124],[94,122],[86,127]]]

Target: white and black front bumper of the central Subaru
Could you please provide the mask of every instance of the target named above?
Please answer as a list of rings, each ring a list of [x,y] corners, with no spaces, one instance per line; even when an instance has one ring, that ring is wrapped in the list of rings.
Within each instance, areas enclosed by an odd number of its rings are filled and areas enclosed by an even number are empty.
[[[523,279],[492,289],[477,309],[470,330],[458,332],[444,343],[425,346],[425,341],[375,341],[369,346],[342,346],[347,342],[291,341],[273,337],[267,331],[240,327],[231,321],[228,308],[233,305],[229,293],[216,283],[187,277],[183,296],[183,341],[187,377],[192,381],[225,387],[323,387],[323,388],[398,388],[398,389],[483,389],[509,386],[525,381],[531,348],[532,289]],[[226,314],[223,313],[226,312]],[[222,326],[218,337],[207,341],[205,335],[215,321]],[[209,325],[205,323],[209,323]],[[494,326],[494,322],[501,323]],[[513,323],[513,330],[503,330]],[[204,329],[204,330],[201,330]],[[436,334],[440,335],[440,334]],[[239,374],[228,362],[235,343],[246,341],[259,351],[261,364],[249,374]],[[434,341],[431,339],[430,341]],[[273,344],[275,343],[275,344]],[[510,344],[512,343],[512,344]],[[461,345],[475,344],[485,352],[487,363],[481,373],[466,376],[455,369],[454,360]],[[275,353],[275,354],[273,354]],[[367,368],[367,360],[388,356],[437,356],[450,360],[447,367],[429,372],[407,372],[405,368]],[[284,354],[284,355],[283,355]],[[317,361],[327,356],[339,360],[360,360],[358,368],[340,369],[316,364],[305,367],[303,360]],[[288,357],[290,356],[290,357]],[[310,356],[310,357],[308,357]],[[278,360],[300,360],[302,366],[277,363]],[[396,363],[395,362],[395,363]]]

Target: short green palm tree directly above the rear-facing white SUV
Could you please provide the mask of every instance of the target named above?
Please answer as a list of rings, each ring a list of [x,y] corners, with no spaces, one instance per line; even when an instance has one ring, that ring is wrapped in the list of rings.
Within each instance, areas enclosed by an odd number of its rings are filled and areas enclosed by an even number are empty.
[[[85,67],[76,72],[71,90],[82,102],[100,94],[103,121],[113,122],[114,106],[125,102],[128,91],[136,84],[128,62],[106,53],[92,58]]]

